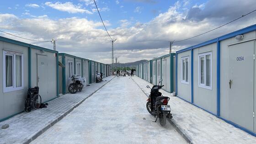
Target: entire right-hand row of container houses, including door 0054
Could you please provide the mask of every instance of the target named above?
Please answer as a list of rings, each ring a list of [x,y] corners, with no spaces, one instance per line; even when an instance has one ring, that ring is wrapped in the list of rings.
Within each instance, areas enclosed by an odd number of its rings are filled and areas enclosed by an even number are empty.
[[[255,53],[252,25],[139,64],[136,70],[152,84],[163,79],[165,91],[256,136]]]

